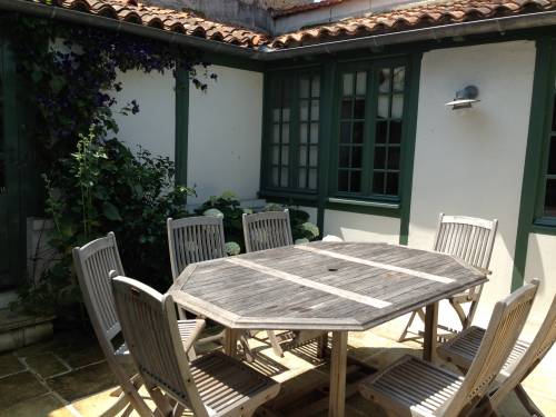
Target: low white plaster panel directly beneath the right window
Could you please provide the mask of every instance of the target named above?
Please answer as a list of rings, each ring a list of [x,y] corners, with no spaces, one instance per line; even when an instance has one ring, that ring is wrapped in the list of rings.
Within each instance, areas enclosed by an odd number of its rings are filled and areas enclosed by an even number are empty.
[[[399,242],[399,219],[358,212],[325,210],[324,236],[335,235],[347,241]]]

